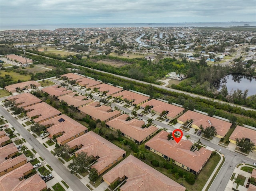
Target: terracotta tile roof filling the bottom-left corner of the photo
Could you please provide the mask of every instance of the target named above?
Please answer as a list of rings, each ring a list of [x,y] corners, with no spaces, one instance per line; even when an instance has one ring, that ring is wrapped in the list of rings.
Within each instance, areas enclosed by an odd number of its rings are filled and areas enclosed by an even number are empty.
[[[42,178],[35,174],[28,179],[19,180],[20,177],[24,177],[24,174],[32,170],[34,167],[31,163],[26,163],[17,169],[0,177],[0,190],[1,191],[24,191],[33,190],[41,191],[47,187]]]

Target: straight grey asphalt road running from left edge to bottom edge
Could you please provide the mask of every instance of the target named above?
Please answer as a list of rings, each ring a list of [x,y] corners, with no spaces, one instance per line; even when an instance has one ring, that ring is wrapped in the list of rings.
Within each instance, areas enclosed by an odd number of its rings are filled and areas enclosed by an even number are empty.
[[[0,113],[10,122],[10,124],[18,131],[18,133],[38,152],[38,154],[45,159],[45,161],[60,175],[60,177],[74,190],[74,191],[90,191],[77,177],[70,173],[70,171],[56,159],[40,142],[28,132],[9,112],[0,105]]]

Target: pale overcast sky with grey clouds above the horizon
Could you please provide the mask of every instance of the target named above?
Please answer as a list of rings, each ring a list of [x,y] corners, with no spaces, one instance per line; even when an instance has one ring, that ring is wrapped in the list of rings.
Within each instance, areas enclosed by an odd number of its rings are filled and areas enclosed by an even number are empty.
[[[1,24],[256,21],[256,0],[0,0]]]

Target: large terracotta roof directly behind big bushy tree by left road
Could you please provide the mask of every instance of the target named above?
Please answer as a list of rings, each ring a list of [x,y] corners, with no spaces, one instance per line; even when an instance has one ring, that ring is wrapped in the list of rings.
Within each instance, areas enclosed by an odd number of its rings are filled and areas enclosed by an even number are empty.
[[[97,162],[92,165],[98,172],[106,168],[116,159],[123,156],[126,151],[120,149],[118,146],[112,144],[108,140],[102,138],[98,134],[90,131],[82,136],[67,143],[70,148],[74,146],[83,145],[76,153],[86,152],[89,156],[99,157]]]

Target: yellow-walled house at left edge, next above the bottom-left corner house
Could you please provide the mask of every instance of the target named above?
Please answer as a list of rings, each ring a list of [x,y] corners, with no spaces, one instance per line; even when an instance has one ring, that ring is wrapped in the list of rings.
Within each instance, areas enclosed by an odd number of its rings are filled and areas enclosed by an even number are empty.
[[[24,154],[15,158],[9,158],[0,163],[0,176],[7,174],[8,172],[27,163],[27,158]]]

